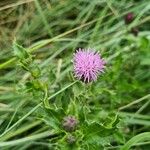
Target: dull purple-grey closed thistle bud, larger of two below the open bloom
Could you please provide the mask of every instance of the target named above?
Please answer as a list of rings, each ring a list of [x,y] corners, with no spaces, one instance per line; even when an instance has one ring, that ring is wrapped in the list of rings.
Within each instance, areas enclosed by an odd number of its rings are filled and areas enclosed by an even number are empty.
[[[75,131],[78,123],[78,120],[74,116],[66,116],[63,119],[63,128],[66,131],[72,132]]]

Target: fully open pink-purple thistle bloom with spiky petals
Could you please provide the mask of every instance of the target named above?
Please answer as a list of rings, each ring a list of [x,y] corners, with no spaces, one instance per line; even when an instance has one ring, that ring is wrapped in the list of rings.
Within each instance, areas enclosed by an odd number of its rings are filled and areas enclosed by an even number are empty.
[[[75,76],[84,82],[95,81],[105,68],[105,61],[92,49],[79,48],[74,54],[73,63]]]

